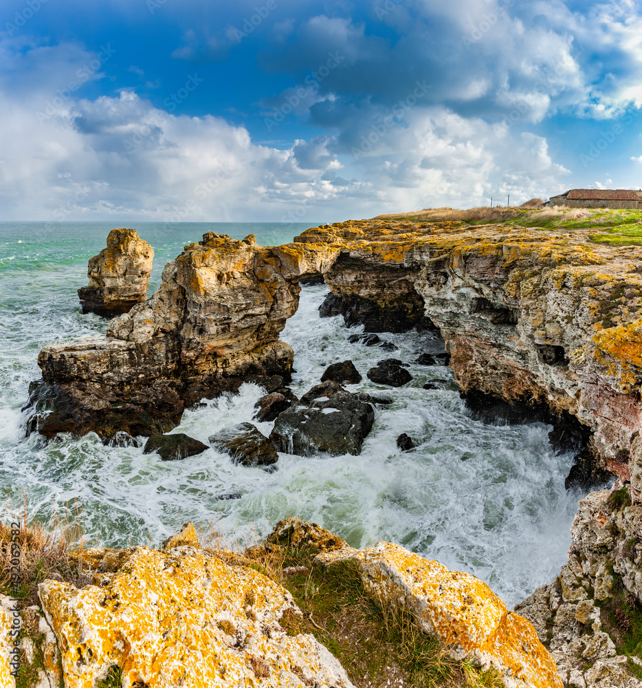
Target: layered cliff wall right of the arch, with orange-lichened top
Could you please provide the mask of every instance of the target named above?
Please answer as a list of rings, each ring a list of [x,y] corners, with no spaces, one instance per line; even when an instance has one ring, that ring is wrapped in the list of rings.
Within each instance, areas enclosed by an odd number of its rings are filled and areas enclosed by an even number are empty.
[[[383,220],[296,241],[340,246],[324,272],[335,299],[362,292],[403,315],[412,287],[465,394],[576,416],[593,433],[585,462],[642,498],[642,248],[594,244],[582,229]]]

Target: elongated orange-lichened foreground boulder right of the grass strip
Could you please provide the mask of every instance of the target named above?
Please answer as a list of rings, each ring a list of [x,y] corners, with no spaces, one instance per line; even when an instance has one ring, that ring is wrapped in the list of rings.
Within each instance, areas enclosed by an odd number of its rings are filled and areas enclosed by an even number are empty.
[[[486,583],[388,542],[316,557],[326,566],[346,559],[357,562],[364,586],[375,599],[406,606],[454,658],[495,667],[507,688],[562,687],[555,660],[533,626],[509,612]]]

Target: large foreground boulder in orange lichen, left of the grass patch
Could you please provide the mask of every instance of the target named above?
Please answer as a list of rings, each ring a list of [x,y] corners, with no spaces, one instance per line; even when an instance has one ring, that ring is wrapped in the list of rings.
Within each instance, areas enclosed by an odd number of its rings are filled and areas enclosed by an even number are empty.
[[[140,547],[103,583],[81,590],[58,581],[39,586],[66,688],[93,687],[114,665],[124,685],[149,688],[351,687],[315,638],[288,636],[280,627],[296,605],[287,590],[252,569],[191,546]],[[234,636],[225,632],[232,627]],[[252,657],[261,658],[260,666]]]

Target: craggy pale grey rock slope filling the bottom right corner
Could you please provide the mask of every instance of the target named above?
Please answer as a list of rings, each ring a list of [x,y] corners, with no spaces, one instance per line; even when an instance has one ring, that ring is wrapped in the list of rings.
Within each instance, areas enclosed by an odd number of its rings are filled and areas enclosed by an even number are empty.
[[[569,688],[642,686],[641,650],[631,645],[642,627],[641,515],[626,487],[580,499],[568,563],[516,607]]]

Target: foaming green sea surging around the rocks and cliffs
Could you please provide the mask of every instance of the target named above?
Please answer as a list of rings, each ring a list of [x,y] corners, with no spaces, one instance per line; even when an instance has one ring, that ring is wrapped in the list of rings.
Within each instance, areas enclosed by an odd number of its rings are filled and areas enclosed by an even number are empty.
[[[300,396],[324,369],[353,361],[363,379],[348,385],[392,398],[375,409],[373,431],[358,456],[279,454],[272,473],[232,463],[208,449],[162,462],[142,447],[105,447],[98,436],[61,436],[52,442],[25,433],[21,407],[40,378],[38,352],[47,344],[102,334],[108,321],[82,314],[78,288],[87,260],[105,246],[111,222],[0,223],[0,510],[10,519],[27,505],[30,519],[51,524],[80,519],[87,539],[101,546],[158,546],[182,524],[219,535],[229,546],[254,544],[276,522],[296,515],[340,535],[354,547],[399,543],[448,568],[486,581],[512,606],[566,562],[570,528],[582,495],[566,491],[571,453],[556,455],[543,423],[485,424],[465,407],[450,369],[417,365],[442,350],[430,332],[381,334],[395,352],[349,343],[340,316],[321,319],[328,288],[304,287],[296,314],[281,335],[295,354],[291,385]],[[155,250],[151,295],[165,264],[185,244],[214,231],[259,244],[285,244],[309,224],[138,223]],[[412,381],[390,389],[366,377],[384,358],[400,358]],[[439,389],[423,389],[443,380]],[[203,442],[215,432],[253,422],[265,391],[245,384],[239,394],[203,400],[173,432]],[[256,423],[269,435],[272,423]],[[417,444],[397,449],[408,433]]]

